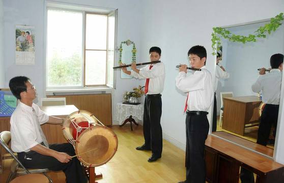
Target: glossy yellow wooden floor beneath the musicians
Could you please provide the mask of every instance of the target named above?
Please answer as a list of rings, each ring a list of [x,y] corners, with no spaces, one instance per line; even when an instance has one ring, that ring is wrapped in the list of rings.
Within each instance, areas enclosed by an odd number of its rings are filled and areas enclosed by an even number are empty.
[[[144,143],[142,126],[130,130],[129,124],[123,127],[113,126],[119,146],[116,155],[105,165],[96,167],[96,173],[102,173],[99,183],[112,182],[178,182],[185,179],[185,152],[163,140],[162,158],[148,163],[151,152],[137,151],[135,147]],[[10,172],[11,160],[4,160],[4,173],[0,182],[5,182]],[[65,182],[63,172],[49,173],[54,183]]]

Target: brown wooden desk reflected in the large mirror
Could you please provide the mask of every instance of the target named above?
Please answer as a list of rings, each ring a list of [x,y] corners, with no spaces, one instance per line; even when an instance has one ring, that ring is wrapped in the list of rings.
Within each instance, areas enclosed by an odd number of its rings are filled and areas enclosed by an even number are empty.
[[[260,104],[261,100],[257,96],[223,97],[222,128],[244,135],[246,124],[259,122]]]

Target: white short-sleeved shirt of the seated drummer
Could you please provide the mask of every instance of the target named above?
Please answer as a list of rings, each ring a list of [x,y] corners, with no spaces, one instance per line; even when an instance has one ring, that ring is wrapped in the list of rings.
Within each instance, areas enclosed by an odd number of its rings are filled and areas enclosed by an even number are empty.
[[[26,105],[19,101],[11,116],[11,147],[16,153],[29,152],[35,145],[44,142],[48,147],[46,137],[41,129],[48,121],[48,116],[38,105]]]

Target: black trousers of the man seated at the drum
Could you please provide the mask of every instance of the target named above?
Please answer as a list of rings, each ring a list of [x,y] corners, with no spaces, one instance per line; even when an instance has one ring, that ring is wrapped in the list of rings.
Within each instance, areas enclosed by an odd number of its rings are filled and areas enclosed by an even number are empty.
[[[70,143],[51,144],[49,149],[75,155],[73,145]],[[61,163],[51,156],[45,156],[35,151],[18,153],[18,159],[26,168],[48,168],[52,171],[63,170],[67,183],[85,183],[88,181],[86,174],[77,158],[72,158],[68,163]]]

